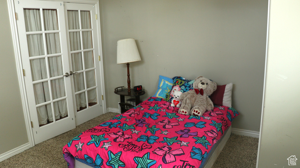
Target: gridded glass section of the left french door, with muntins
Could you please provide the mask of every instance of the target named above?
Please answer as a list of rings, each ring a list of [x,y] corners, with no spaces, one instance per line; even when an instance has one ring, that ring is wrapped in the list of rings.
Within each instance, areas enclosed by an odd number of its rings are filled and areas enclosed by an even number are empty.
[[[38,123],[44,126],[68,116],[57,10],[24,9],[24,18]]]

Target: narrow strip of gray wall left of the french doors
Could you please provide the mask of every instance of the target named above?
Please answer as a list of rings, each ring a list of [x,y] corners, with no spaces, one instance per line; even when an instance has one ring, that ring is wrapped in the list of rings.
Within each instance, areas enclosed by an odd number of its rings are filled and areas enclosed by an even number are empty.
[[[7,1],[0,1],[0,155],[28,143]]]

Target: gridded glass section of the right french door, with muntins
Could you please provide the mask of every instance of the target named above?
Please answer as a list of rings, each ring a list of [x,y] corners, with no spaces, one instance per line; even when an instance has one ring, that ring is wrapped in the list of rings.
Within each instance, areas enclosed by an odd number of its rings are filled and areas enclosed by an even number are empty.
[[[67,10],[77,112],[98,103],[90,11]],[[90,94],[88,94],[90,93]]]

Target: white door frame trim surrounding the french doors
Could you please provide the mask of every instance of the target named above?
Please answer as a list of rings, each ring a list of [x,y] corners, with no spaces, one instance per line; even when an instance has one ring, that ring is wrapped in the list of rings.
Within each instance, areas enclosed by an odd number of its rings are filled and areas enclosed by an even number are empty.
[[[22,59],[21,59],[21,52],[19,46],[19,37],[17,31],[17,24],[16,24],[16,16],[15,16],[15,9],[14,9],[14,1],[17,0],[7,0],[8,6],[8,13],[10,19],[10,29],[13,38],[13,48],[15,53],[16,59],[16,68],[17,68],[17,75],[19,81],[19,88],[21,92],[21,100],[22,100],[22,107],[25,119],[25,126],[27,130],[27,136],[29,140],[30,147],[35,146],[33,132],[31,127],[31,119],[29,114],[29,106],[28,106],[28,99],[26,96],[26,87],[25,87],[25,80],[23,76],[23,67],[22,67]],[[97,21],[97,31],[98,31],[98,44],[99,44],[99,57],[100,60],[100,72],[101,72],[101,90],[103,93],[103,111],[106,113],[106,99],[105,99],[105,87],[104,87],[104,69],[103,69],[103,57],[102,57],[102,43],[101,43],[101,25],[100,25],[100,10],[99,10],[99,1],[98,0],[48,0],[48,1],[62,1],[62,2],[72,2],[72,3],[84,3],[84,4],[94,4],[96,8],[96,14],[98,15]],[[99,100],[101,101],[101,100]]]

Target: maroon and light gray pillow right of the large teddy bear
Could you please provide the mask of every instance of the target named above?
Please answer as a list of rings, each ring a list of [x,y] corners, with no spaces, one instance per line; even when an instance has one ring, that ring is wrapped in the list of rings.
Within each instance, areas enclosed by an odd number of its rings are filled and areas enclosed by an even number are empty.
[[[216,91],[210,95],[214,105],[231,107],[232,83],[218,85]]]

